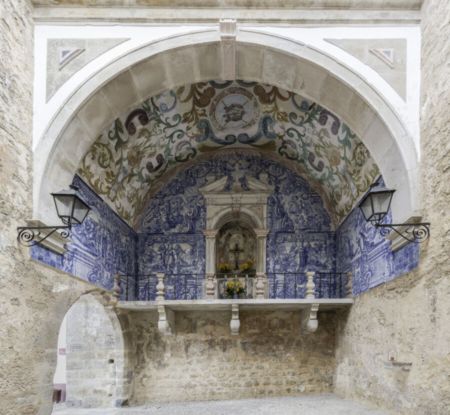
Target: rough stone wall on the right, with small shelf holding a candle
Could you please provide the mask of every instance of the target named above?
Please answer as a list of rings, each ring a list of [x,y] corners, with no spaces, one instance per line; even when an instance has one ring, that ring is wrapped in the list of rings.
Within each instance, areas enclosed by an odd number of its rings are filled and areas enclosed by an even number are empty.
[[[354,298],[338,318],[336,391],[391,414],[450,413],[450,7],[421,7],[419,267]],[[410,371],[386,370],[394,348]]]

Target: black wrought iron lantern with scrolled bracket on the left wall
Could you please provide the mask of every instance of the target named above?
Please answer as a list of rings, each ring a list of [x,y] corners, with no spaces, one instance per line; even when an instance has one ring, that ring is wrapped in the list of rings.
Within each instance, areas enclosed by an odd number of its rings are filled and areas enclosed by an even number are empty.
[[[69,185],[69,190],[61,190],[57,193],[51,193],[56,207],[56,213],[62,220],[64,225],[61,226],[19,226],[17,227],[18,241],[24,246],[37,245],[48,236],[54,233],[56,230],[62,230],[58,232],[63,238],[68,237],[69,230],[75,226],[78,226],[83,222],[87,213],[90,210],[89,205],[84,202],[77,194],[77,186]],[[46,232],[47,230],[50,230]],[[40,239],[35,239],[36,236],[40,236],[41,232],[45,231],[45,235]],[[42,232],[43,233],[43,232]]]

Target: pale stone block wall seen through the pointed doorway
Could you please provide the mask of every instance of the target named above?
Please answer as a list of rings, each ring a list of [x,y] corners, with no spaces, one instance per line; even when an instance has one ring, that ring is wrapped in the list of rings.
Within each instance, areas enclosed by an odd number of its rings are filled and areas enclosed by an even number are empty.
[[[103,306],[85,294],[67,312],[66,405],[112,406],[115,399],[116,340]]]

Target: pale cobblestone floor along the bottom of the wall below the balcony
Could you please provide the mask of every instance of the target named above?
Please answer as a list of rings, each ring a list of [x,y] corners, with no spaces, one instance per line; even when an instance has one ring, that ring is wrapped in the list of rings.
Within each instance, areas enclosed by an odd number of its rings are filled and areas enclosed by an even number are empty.
[[[52,415],[386,415],[333,394],[212,400],[204,402],[153,403],[115,409],[53,406]]]

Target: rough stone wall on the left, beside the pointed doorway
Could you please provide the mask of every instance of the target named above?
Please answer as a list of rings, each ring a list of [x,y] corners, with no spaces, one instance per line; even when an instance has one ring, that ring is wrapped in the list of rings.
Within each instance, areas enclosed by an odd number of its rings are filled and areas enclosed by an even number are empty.
[[[48,415],[62,318],[94,286],[30,261],[17,242],[32,212],[33,8],[0,10],[0,413]]]

